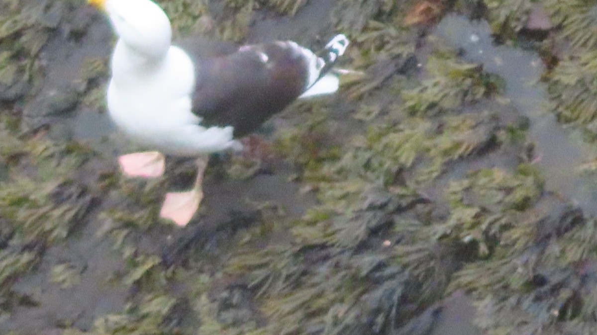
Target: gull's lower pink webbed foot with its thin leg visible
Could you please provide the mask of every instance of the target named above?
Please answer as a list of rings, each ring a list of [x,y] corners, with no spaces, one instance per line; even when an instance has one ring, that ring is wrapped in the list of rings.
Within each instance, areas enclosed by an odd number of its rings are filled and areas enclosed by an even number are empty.
[[[203,199],[203,173],[207,168],[209,157],[201,156],[197,159],[197,179],[192,190],[186,192],[171,192],[166,194],[159,216],[174,221],[179,226],[186,226],[199,208]]]

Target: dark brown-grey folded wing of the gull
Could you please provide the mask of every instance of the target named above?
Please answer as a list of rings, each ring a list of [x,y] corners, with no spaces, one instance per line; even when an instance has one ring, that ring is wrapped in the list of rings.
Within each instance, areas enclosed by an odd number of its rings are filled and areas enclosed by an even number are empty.
[[[231,125],[235,137],[255,131],[303,93],[308,63],[296,44],[243,46],[220,57],[196,57],[193,112],[204,125]]]

